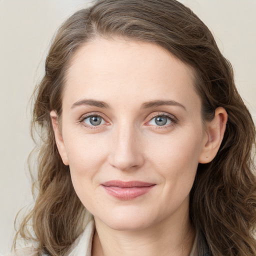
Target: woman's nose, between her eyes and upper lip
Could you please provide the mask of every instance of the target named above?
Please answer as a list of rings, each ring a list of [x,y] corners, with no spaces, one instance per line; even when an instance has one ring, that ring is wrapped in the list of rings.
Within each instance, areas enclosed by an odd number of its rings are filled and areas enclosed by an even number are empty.
[[[130,125],[119,125],[112,133],[109,163],[122,171],[138,169],[144,163],[141,135]]]

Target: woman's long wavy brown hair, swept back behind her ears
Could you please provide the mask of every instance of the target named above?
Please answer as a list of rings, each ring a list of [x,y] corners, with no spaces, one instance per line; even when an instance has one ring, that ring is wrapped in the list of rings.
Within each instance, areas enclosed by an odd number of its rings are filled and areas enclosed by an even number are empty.
[[[82,231],[85,209],[58,154],[49,112],[54,109],[61,116],[71,58],[98,36],[160,45],[194,70],[203,120],[212,119],[218,106],[225,108],[228,121],[219,151],[210,163],[198,165],[190,192],[190,219],[211,255],[256,255],[254,124],[235,88],[232,67],[211,32],[176,0],[99,0],[75,12],[58,29],[34,92],[32,129],[40,134],[36,201],[17,234],[37,241],[39,253],[64,255]],[[28,232],[30,222],[33,234]]]

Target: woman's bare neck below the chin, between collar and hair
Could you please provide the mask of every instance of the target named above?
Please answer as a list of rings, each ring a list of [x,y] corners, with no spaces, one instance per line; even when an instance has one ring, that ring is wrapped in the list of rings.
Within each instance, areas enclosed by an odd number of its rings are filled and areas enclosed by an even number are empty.
[[[97,218],[95,227],[92,256],[188,256],[195,237],[188,212],[139,230],[115,230]]]

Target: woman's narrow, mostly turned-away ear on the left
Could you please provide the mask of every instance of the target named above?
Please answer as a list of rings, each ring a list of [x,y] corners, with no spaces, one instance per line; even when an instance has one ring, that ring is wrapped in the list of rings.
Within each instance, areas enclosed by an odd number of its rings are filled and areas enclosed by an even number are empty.
[[[58,152],[61,156],[61,159],[62,159],[63,163],[65,165],[68,165],[68,159],[67,159],[67,155],[66,155],[66,150],[65,150],[65,145],[64,145],[62,133],[61,133],[60,128],[59,128],[59,124],[58,124],[58,120],[57,120],[57,114],[54,110],[52,110],[50,112],[50,117],[51,117],[52,127],[53,127],[53,130],[54,130],[55,141],[56,141],[56,145],[57,145],[57,148],[58,148]]]

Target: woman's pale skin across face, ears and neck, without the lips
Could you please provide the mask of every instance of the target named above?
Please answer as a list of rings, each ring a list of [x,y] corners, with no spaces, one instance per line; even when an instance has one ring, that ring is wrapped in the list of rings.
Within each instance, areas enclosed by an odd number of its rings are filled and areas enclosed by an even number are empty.
[[[203,126],[193,83],[189,66],[151,43],[96,38],[74,55],[61,129],[50,114],[74,189],[94,216],[92,256],[189,255],[189,191],[198,163],[216,155],[227,121],[218,107]],[[102,188],[108,180],[154,185],[121,200]]]

